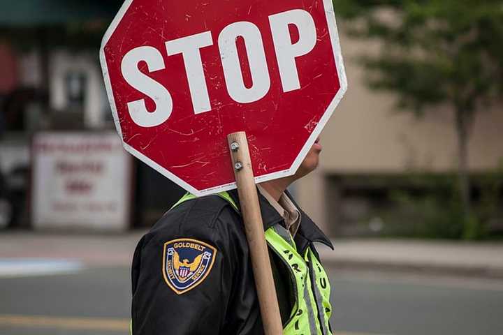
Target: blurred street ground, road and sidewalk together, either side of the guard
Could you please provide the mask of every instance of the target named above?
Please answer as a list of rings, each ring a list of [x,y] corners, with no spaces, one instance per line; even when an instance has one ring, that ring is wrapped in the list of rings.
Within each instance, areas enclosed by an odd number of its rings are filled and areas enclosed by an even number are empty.
[[[141,234],[0,234],[0,335],[127,334]],[[503,244],[334,242],[335,334],[503,334]]]

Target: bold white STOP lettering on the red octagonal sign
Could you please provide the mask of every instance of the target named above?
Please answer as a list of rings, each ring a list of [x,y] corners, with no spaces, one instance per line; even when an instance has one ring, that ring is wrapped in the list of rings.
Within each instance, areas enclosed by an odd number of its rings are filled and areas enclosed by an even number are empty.
[[[307,54],[316,45],[314,20],[307,11],[296,9],[270,15],[269,22],[282,89],[284,92],[300,89],[296,57]],[[291,40],[289,25],[298,31],[299,38],[295,43]],[[235,43],[238,38],[244,41],[251,72],[251,87],[245,85],[242,76],[238,45]],[[168,56],[182,54],[194,114],[212,110],[203,59],[201,59],[201,48],[211,45],[213,45],[213,40],[210,31],[166,41]],[[218,46],[226,88],[233,101],[254,103],[268,94],[269,69],[262,34],[255,24],[247,21],[229,24],[220,32]],[[173,98],[162,84],[152,80],[138,69],[142,61],[145,61],[150,72],[166,68],[163,54],[155,47],[140,46],[126,53],[121,64],[124,79],[131,87],[150,97],[156,105],[155,109],[150,112],[147,110],[144,99],[131,101],[127,103],[129,114],[139,126],[159,126],[170,117],[173,111]]]

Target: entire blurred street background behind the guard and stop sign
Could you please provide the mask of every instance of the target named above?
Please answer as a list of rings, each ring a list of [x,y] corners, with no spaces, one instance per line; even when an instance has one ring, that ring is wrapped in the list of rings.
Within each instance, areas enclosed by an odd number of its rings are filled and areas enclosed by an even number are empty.
[[[184,193],[115,133],[121,5],[0,0],[0,334],[127,334],[136,241]],[[502,334],[503,1],[334,6],[349,89],[291,191],[335,334]]]

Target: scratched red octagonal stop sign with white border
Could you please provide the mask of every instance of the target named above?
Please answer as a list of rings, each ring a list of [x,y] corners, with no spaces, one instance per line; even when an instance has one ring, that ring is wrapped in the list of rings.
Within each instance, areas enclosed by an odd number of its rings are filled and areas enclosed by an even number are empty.
[[[347,88],[331,0],[129,0],[100,55],[125,149],[196,195],[237,131],[256,182],[295,173]]]

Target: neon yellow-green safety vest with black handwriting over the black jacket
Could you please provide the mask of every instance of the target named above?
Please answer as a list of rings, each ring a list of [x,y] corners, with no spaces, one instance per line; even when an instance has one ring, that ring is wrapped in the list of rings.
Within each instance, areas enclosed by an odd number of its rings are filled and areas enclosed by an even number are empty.
[[[227,192],[218,193],[236,211],[237,204]],[[171,209],[182,202],[197,198],[187,193]],[[330,306],[330,283],[318,258],[308,247],[304,257],[297,251],[289,230],[277,224],[265,231],[268,246],[289,269],[293,294],[296,299],[289,320],[283,325],[283,334],[330,335],[328,320],[332,314]]]

